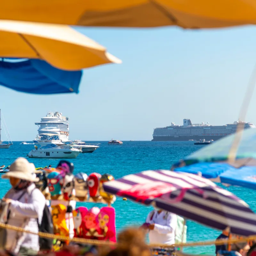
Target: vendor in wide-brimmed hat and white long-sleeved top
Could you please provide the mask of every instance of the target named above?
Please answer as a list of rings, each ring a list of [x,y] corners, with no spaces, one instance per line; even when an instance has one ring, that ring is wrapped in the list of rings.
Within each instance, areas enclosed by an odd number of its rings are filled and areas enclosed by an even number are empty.
[[[45,197],[34,184],[38,181],[33,174],[35,171],[34,164],[19,157],[10,166],[9,172],[1,178],[10,179],[12,185],[3,199],[9,204],[10,214],[7,223],[38,233],[38,223],[41,223],[43,217]],[[5,249],[19,255],[36,255],[39,251],[39,238],[37,235],[7,229]]]

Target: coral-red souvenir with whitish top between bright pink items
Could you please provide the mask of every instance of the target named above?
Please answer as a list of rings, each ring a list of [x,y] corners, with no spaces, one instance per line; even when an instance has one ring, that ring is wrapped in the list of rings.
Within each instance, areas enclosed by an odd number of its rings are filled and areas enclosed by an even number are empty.
[[[98,222],[97,217],[100,212],[98,207],[92,207],[84,216],[84,226],[85,233],[83,233],[84,238],[97,239],[98,236]]]

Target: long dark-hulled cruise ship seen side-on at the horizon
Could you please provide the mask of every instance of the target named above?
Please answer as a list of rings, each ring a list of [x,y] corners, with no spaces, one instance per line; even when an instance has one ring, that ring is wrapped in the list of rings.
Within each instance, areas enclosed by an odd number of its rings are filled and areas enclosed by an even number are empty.
[[[244,128],[255,128],[254,124],[240,120],[233,124],[210,125],[209,123],[192,124],[190,119],[183,119],[183,125],[172,123],[171,126],[154,129],[152,141],[218,140],[235,133],[239,125],[244,125]]]

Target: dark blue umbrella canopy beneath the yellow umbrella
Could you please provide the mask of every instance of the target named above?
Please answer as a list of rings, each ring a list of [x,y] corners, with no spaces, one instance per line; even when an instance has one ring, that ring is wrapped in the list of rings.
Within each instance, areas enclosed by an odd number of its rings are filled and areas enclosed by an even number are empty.
[[[81,70],[61,70],[43,60],[4,59],[0,61],[0,84],[19,92],[78,93],[81,77]]]

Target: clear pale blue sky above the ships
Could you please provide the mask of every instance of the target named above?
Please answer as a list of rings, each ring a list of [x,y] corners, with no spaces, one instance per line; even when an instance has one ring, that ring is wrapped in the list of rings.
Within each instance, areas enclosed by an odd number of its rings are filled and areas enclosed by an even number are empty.
[[[123,60],[84,70],[79,94],[0,86],[12,140],[33,140],[48,110],[70,118],[70,139],[151,140],[153,129],[234,122],[256,62],[256,27],[221,30],[78,28]],[[256,124],[253,96],[246,121]]]

